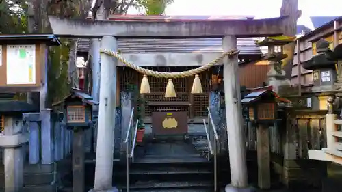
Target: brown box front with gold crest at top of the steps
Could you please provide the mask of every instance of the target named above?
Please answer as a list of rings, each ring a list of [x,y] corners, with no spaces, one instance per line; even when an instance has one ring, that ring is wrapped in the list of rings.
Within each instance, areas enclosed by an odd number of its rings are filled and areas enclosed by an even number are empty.
[[[187,133],[187,111],[153,112],[152,127],[155,135],[184,135]]]

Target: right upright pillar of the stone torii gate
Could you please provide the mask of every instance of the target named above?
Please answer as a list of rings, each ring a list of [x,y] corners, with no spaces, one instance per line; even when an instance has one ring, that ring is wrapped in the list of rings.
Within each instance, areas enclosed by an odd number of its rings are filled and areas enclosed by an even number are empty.
[[[237,49],[236,36],[222,38],[223,51]],[[237,55],[223,59],[224,100],[226,107],[226,127],[228,135],[229,164],[231,167],[231,184],[226,192],[250,191],[247,179],[246,146],[244,128],[242,127],[241,95],[239,85],[239,66]]]

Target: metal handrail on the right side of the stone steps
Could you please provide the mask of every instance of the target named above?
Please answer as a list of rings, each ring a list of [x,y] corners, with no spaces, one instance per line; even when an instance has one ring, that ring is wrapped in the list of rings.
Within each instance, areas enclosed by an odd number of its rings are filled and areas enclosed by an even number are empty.
[[[209,139],[208,139],[209,143],[211,143],[211,139],[210,139],[210,131],[211,130],[213,131],[213,135],[214,135],[214,141],[213,141],[214,191],[217,191],[217,189],[218,189],[218,173],[217,173],[218,172],[218,154],[217,154],[218,151],[217,151],[217,144],[219,142],[219,138],[218,138],[218,133],[216,132],[215,124],[213,122],[213,116],[211,115],[209,107],[207,107],[207,109],[208,109],[208,126],[209,126],[209,130],[208,130],[209,134],[207,135],[207,137],[209,137]],[[208,159],[209,159],[209,156],[208,156]]]

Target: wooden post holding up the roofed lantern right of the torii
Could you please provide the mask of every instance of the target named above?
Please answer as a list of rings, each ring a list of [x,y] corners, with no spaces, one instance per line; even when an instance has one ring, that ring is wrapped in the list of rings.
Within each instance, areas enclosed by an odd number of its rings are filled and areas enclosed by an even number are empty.
[[[264,124],[257,128],[257,154],[258,154],[258,185],[260,189],[271,187],[269,129]]]

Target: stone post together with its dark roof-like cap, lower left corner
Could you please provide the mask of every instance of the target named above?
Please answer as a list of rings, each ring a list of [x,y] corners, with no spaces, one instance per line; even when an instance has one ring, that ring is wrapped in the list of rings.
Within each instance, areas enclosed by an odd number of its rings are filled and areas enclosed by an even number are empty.
[[[3,131],[0,148],[3,148],[5,191],[21,191],[24,185],[25,156],[23,145],[29,141],[29,133],[23,128],[23,113],[36,112],[34,105],[14,100],[15,94],[0,94],[0,116]]]

